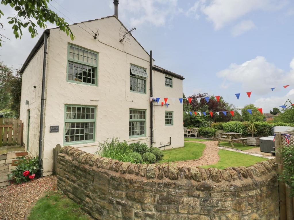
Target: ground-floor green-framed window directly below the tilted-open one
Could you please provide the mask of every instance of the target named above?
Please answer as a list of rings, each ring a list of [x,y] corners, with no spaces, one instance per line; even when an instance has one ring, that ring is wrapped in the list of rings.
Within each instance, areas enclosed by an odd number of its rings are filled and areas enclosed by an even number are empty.
[[[146,110],[130,109],[129,137],[146,136]]]

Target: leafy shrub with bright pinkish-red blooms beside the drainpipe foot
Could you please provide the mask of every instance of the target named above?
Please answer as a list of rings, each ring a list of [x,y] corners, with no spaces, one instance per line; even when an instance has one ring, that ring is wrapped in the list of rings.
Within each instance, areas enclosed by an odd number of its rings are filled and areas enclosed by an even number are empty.
[[[29,180],[38,178],[38,157],[25,158],[17,157],[18,165],[15,170],[11,171],[11,174],[8,175],[9,178],[12,178],[16,183],[24,183]]]

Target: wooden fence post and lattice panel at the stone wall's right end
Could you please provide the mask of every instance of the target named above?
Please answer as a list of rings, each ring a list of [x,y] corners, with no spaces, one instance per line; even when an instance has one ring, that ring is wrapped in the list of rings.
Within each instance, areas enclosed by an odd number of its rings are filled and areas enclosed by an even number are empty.
[[[289,144],[283,134],[290,134]],[[294,132],[278,132],[275,134],[276,164],[278,166],[278,175],[283,171],[283,158],[280,155],[280,148],[284,146],[294,146]],[[280,220],[294,219],[294,198],[289,196],[290,188],[282,181],[279,181],[279,199],[280,199]]]

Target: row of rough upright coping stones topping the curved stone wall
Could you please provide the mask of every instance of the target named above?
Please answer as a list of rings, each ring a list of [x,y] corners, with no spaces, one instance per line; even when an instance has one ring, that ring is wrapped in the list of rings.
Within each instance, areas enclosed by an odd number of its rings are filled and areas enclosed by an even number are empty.
[[[252,166],[228,167],[224,170],[217,168],[181,167],[163,164],[134,164],[121,162],[99,155],[89,154],[73,146],[61,148],[61,154],[70,156],[78,163],[86,164],[98,169],[113,171],[119,174],[131,174],[147,179],[187,179],[197,182],[211,180],[215,183],[222,181],[234,182],[245,179],[254,180],[255,177],[266,176],[275,170],[275,159],[255,163]],[[61,155],[62,156],[62,155]]]

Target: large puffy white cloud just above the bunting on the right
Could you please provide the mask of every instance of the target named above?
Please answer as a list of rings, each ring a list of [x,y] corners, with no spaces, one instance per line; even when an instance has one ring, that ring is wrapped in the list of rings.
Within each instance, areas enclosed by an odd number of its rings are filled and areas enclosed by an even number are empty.
[[[267,62],[265,57],[258,56],[240,65],[230,64],[227,69],[219,71],[216,75],[223,79],[225,85],[223,88],[234,88],[241,85],[246,91],[254,91],[257,95],[264,95],[271,92],[270,88],[272,87],[294,82],[294,59],[290,66],[291,71],[285,73],[274,64]]]

